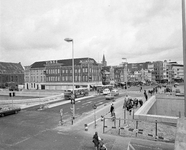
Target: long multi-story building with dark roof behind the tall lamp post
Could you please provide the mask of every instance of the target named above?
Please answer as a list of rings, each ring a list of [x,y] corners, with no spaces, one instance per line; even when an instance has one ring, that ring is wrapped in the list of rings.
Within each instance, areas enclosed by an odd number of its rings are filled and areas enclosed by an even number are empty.
[[[101,68],[93,58],[74,59],[74,85],[100,84]],[[72,59],[35,62],[27,72],[28,89],[63,90],[72,88]]]

